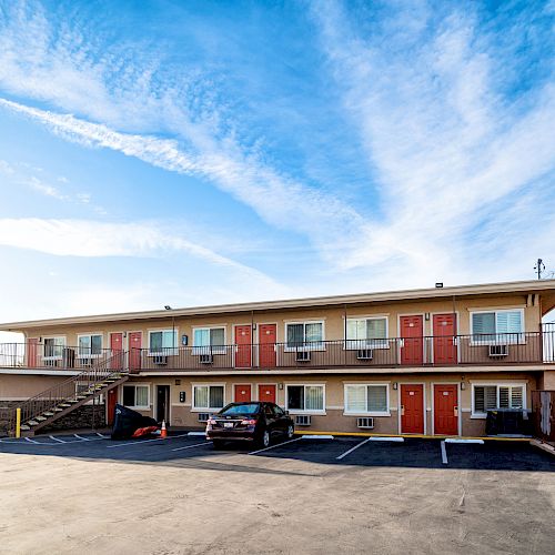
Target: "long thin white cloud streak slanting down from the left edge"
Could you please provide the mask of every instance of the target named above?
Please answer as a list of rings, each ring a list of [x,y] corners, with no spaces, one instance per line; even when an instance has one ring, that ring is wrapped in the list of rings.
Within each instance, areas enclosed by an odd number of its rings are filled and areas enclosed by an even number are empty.
[[[31,118],[67,140],[115,150],[168,171],[210,179],[252,206],[265,221],[306,233],[322,253],[337,264],[349,263],[350,252],[355,250],[354,241],[361,239],[364,220],[354,209],[336,196],[276,173],[231,142],[220,149],[214,140],[206,138],[201,153],[189,153],[176,140],[121,133],[71,114],[6,99],[0,99],[0,107]],[[344,250],[341,259],[336,258],[339,249]]]

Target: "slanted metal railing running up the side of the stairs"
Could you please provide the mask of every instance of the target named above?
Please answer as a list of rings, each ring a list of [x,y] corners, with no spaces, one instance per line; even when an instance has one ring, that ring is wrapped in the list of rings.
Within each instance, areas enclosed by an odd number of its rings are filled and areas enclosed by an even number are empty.
[[[120,364],[121,369],[118,367]],[[122,369],[120,353],[111,357],[98,359],[84,372],[71,376],[19,404],[21,423],[24,424],[37,416],[53,411],[62,403],[71,405],[71,403],[82,401],[84,397],[93,397],[98,393],[97,386],[109,377],[123,375],[125,372]],[[16,407],[6,408],[0,416],[7,423],[8,433],[12,433],[16,427]]]

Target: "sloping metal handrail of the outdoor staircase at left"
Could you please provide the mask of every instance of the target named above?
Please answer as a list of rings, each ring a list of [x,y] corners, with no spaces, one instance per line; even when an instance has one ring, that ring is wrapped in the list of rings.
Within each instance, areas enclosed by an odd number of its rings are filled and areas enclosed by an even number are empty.
[[[82,393],[77,391],[74,386],[75,383],[83,383],[87,385],[87,392],[94,393],[91,391],[98,383],[102,382],[107,377],[110,377],[112,374],[127,374],[127,370],[123,365],[123,353],[118,352],[110,357],[104,357],[101,361],[94,363],[93,366],[85,370],[84,372],[80,372],[79,374],[64,380],[61,383],[49,387],[40,392],[39,394],[29,397],[24,401],[19,408],[21,408],[21,423],[29,422],[37,416],[40,416],[44,412],[48,412],[60,403],[64,403],[68,401],[72,401],[80,396]],[[111,364],[117,361],[119,367],[110,367]],[[72,385],[72,387],[68,391],[68,386]],[[70,394],[67,394],[70,393]],[[16,427],[16,407],[11,408],[11,414],[8,423],[8,433],[13,432]]]

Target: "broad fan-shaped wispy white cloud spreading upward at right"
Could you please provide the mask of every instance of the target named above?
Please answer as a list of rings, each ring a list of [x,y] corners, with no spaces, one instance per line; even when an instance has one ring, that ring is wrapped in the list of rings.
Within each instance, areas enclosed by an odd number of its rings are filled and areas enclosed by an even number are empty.
[[[314,4],[313,14],[345,113],[381,183],[384,221],[369,224],[361,262],[392,256],[418,275],[484,271],[488,262],[465,248],[480,235],[476,226],[506,195],[555,168],[555,89],[545,80],[527,105],[503,98],[498,52],[476,34],[470,10],[440,14],[431,26],[431,7],[401,9],[365,32],[344,8]],[[537,213],[526,210],[528,220]]]

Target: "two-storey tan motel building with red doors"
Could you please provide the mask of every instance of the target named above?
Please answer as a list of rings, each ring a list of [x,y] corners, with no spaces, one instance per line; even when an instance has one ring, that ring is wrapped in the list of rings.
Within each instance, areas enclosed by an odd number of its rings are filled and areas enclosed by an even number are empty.
[[[0,408],[22,435],[115,403],[204,427],[232,401],[272,401],[297,430],[485,435],[555,390],[555,280],[6,323]]]

